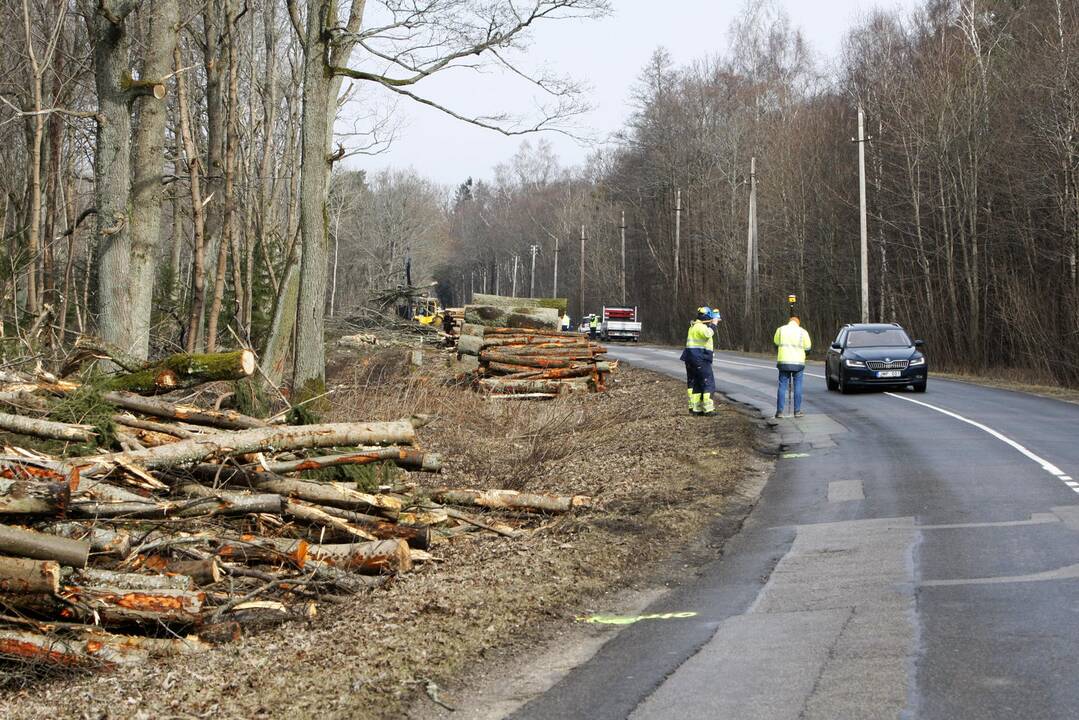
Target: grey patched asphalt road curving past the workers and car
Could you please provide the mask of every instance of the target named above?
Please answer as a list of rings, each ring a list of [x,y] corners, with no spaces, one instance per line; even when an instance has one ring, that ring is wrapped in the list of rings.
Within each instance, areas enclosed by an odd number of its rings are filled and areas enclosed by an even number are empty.
[[[675,350],[613,354],[684,377]],[[714,367],[770,418],[771,363]],[[1079,405],[931,375],[839,395],[821,371],[805,418],[768,421],[739,533],[648,610],[696,614],[626,626],[514,718],[1079,718]]]

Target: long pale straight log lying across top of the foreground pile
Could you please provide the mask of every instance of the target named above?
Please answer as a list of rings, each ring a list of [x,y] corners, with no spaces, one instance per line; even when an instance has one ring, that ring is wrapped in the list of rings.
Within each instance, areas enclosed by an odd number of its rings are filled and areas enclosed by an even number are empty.
[[[106,474],[123,464],[148,470],[175,467],[215,457],[244,454],[265,448],[282,451],[333,446],[412,445],[414,441],[415,429],[408,421],[258,427],[235,433],[207,434],[133,452],[76,458],[67,461],[65,466],[78,467],[83,476],[93,476]]]

